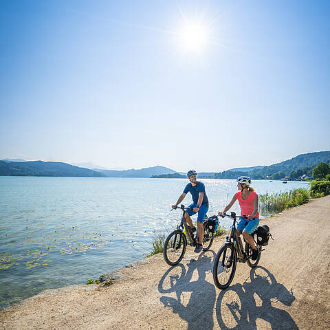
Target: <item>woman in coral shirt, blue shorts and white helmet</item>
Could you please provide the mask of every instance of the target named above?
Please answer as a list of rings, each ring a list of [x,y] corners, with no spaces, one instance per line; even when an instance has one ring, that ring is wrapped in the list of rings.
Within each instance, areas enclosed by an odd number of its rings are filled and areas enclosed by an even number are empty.
[[[236,181],[239,192],[236,192],[228,206],[224,208],[223,212],[219,212],[219,215],[221,216],[224,212],[227,212],[232,207],[234,202],[237,199],[239,200],[241,216],[248,217],[248,219],[239,218],[236,234],[237,236],[240,236],[241,233],[243,233],[245,241],[247,241],[252,247],[251,259],[256,260],[258,257],[258,250],[252,236],[250,235],[259,225],[259,197],[256,194],[254,188],[250,186],[250,177],[239,177]]]

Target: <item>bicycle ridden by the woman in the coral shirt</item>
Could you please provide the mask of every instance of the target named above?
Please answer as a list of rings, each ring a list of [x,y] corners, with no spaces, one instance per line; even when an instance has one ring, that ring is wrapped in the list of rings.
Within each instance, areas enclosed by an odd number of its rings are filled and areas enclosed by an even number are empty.
[[[226,289],[229,287],[230,283],[232,283],[232,279],[234,278],[237,261],[239,261],[239,263],[248,263],[251,268],[254,268],[258,265],[261,258],[261,252],[263,252],[264,249],[262,250],[262,245],[256,240],[255,230],[252,232],[251,236],[256,244],[258,256],[256,260],[252,261],[251,245],[245,241],[245,248],[243,249],[241,237],[236,234],[236,218],[248,219],[248,217],[236,216],[235,212],[231,212],[230,215],[223,213],[222,217],[230,217],[233,221],[230,236],[226,237],[225,243],[220,248],[217,256],[215,256],[213,264],[213,280],[219,289]]]

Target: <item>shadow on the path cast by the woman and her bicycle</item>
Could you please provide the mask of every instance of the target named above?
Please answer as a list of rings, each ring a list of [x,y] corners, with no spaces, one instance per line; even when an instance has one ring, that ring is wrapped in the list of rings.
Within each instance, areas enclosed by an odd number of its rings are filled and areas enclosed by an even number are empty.
[[[272,329],[298,329],[287,311],[273,307],[280,301],[291,306],[295,298],[265,268],[258,266],[251,270],[250,281],[243,285],[236,283],[222,291],[217,299],[216,313],[220,329],[257,329],[258,319],[270,323]]]

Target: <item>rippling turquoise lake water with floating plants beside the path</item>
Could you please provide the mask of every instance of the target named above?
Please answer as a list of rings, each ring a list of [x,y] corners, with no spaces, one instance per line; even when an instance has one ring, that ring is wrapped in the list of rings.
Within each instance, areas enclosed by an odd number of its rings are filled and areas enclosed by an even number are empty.
[[[209,215],[236,192],[236,181],[203,179]],[[170,205],[185,179],[0,177],[0,307],[44,289],[89,278],[142,259],[154,232],[180,219]],[[306,183],[255,180],[257,192],[280,192]],[[187,206],[190,196],[183,201]],[[238,212],[238,205],[232,210]],[[223,220],[228,227],[230,221]]]

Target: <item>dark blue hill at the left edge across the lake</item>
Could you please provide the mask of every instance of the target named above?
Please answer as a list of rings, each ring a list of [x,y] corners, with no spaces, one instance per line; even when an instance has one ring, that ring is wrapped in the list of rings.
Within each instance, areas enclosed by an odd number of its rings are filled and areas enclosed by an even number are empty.
[[[60,162],[2,162],[0,175],[34,177],[105,177],[104,174]]]

